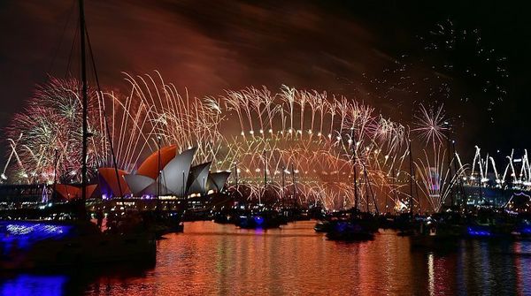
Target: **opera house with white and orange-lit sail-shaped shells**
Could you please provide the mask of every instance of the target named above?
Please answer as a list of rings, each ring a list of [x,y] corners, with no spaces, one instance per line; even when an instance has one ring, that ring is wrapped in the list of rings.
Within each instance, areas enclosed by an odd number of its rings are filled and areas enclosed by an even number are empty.
[[[192,166],[195,153],[196,148],[185,150],[181,154],[177,154],[175,146],[161,148],[160,151],[146,158],[135,174],[119,171],[119,186],[118,182],[108,181],[116,180],[115,170],[100,169],[99,183],[102,193],[107,192],[119,196],[121,190],[122,194],[133,196],[186,197],[190,194],[209,194],[221,191],[230,172],[211,173],[211,163]]]

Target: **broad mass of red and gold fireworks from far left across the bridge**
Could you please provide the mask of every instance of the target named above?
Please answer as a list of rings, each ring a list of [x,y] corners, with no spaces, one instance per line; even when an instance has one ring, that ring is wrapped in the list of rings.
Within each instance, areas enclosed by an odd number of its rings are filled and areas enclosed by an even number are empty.
[[[372,107],[326,92],[281,87],[227,90],[217,97],[181,95],[162,76],[124,73],[127,95],[89,94],[89,167],[92,173],[111,166],[109,140],[119,169],[135,171],[143,157],[163,145],[197,147],[195,163],[212,161],[212,170],[236,163],[250,199],[291,193],[301,203],[327,209],[354,204],[354,163],[362,201],[376,209],[396,204],[391,171],[400,171],[405,128],[383,118]],[[10,171],[28,183],[79,181],[81,103],[73,80],[51,79],[39,87],[27,110],[13,118],[9,143]],[[112,139],[107,139],[108,116]],[[229,120],[237,118],[237,120]],[[21,134],[21,136],[20,136]],[[56,152],[57,151],[57,152]],[[352,158],[353,153],[357,157]],[[11,160],[11,158],[10,158]],[[12,174],[13,175],[13,174]],[[267,183],[264,189],[263,176]],[[282,175],[291,175],[281,186]],[[232,185],[234,186],[234,185]],[[231,188],[235,190],[235,188]],[[369,197],[372,192],[372,197]]]

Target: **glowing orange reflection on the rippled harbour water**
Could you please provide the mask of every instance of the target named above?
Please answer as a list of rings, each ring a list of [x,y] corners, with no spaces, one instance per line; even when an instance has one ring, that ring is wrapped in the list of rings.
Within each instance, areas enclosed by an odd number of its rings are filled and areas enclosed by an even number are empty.
[[[313,222],[252,231],[211,222],[186,224],[185,233],[159,241],[157,266],[129,278],[114,295],[406,293],[412,286],[409,240],[383,232],[374,241],[336,243]],[[106,283],[111,284],[111,283]],[[90,293],[106,285],[92,285]]]

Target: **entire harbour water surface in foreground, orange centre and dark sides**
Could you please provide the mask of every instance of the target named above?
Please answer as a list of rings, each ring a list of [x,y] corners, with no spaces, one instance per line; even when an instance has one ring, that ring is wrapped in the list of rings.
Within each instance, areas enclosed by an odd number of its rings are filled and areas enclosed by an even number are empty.
[[[365,243],[327,241],[297,222],[246,231],[196,222],[158,242],[155,266],[2,275],[5,295],[531,295],[531,242],[464,241],[412,252],[381,231]]]

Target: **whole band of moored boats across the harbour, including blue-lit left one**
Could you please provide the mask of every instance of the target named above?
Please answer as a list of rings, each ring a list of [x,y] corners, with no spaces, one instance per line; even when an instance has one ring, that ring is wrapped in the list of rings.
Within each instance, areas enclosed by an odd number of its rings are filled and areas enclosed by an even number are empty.
[[[409,237],[413,248],[450,249],[462,239],[531,239],[529,214],[494,208],[444,209],[424,216],[253,203],[212,207],[204,215],[187,215],[186,210],[101,209],[68,201],[0,211],[0,269],[155,262],[157,239],[184,231],[183,221],[196,220],[265,230],[313,219],[314,231],[324,233],[328,240],[353,242],[374,239],[381,229],[393,229],[396,235]]]

